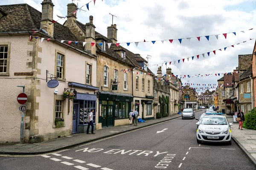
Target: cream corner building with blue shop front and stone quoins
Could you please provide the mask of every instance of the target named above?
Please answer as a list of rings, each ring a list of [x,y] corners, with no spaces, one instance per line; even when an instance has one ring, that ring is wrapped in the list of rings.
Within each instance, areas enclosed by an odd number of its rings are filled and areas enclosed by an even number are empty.
[[[94,93],[99,88],[95,49],[75,43],[80,37],[66,26],[52,23],[54,5],[51,0],[41,4],[43,13],[27,4],[0,6],[1,143],[20,141],[21,113],[17,95],[22,93],[22,88],[18,85],[25,86],[28,96],[24,142],[41,142],[84,132],[86,113],[96,110]],[[68,16],[68,20],[70,17],[73,16]],[[44,29],[32,31],[40,27]],[[82,41],[89,37],[85,36]],[[49,81],[51,75],[57,81]],[[73,91],[75,98],[64,99],[64,91]],[[55,122],[56,118],[60,121]]]

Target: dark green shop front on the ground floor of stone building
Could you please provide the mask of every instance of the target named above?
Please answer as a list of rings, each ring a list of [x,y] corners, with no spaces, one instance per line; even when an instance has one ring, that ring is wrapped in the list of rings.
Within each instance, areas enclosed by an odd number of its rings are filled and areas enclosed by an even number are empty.
[[[102,127],[128,124],[133,98],[129,94],[100,91],[99,123]]]

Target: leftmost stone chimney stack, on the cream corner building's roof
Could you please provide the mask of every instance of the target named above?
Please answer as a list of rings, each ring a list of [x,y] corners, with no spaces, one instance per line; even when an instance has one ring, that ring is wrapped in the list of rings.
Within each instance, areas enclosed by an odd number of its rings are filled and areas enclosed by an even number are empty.
[[[47,31],[48,35],[50,37],[53,37],[53,25],[49,25],[49,23],[52,23],[53,20],[53,3],[52,0],[44,0],[42,3],[42,20],[41,20],[41,28],[46,26],[44,28],[45,31]]]

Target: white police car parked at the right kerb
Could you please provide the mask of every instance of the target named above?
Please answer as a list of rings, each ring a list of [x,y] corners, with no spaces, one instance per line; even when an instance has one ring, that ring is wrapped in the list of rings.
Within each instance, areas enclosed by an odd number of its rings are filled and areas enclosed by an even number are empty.
[[[232,144],[231,127],[224,113],[205,113],[206,115],[197,122],[196,140],[201,142],[228,142]]]

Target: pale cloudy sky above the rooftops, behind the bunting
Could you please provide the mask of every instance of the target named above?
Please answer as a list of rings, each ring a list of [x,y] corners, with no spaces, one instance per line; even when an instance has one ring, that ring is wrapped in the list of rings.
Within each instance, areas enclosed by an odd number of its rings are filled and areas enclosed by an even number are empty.
[[[0,5],[27,3],[41,11],[42,1],[0,0]],[[74,0],[73,2],[81,7],[90,1]],[[55,5],[53,19],[58,20],[57,15],[67,15],[67,4],[72,1],[52,0],[52,2]],[[107,27],[112,23],[109,13],[116,16],[113,18],[113,24],[117,25],[117,40],[120,45],[134,54],[140,54],[146,60],[147,55],[150,55],[148,65],[154,74],[157,75],[157,68],[164,63],[163,75],[166,73],[166,67],[172,68],[174,75],[178,75],[179,78],[182,75],[183,85],[189,83],[190,87],[199,89],[205,87],[202,84],[218,84],[217,80],[222,77],[221,73],[233,72],[238,67],[239,54],[253,52],[255,39],[250,39],[256,38],[256,17],[253,17],[256,14],[256,0],[96,0],[95,5],[93,2],[89,3],[89,11],[86,6],[82,11],[78,11],[77,20],[88,23],[89,16],[92,15],[95,30],[107,36]],[[65,20],[63,18],[58,22],[62,24]],[[251,28],[254,29],[249,30]],[[229,32],[231,33],[227,34],[225,39],[223,34]],[[236,35],[232,32],[236,32]],[[220,34],[218,40],[216,34]],[[212,35],[209,36],[209,40],[204,37],[208,35]],[[198,41],[196,37],[200,36],[202,37]],[[186,39],[189,37],[192,38]],[[180,43],[177,39],[181,38]],[[144,40],[149,42],[143,42]],[[151,41],[155,40],[158,41],[153,44]],[[161,40],[165,41],[162,43]],[[135,43],[131,43],[127,46],[122,42],[139,42],[139,44],[136,46]],[[238,43],[240,44],[237,45]],[[227,47],[226,50],[224,47]],[[210,52],[208,57],[207,52],[214,50],[216,50],[215,54]],[[204,57],[200,55],[198,59],[198,54],[204,54]],[[189,61],[188,57],[190,57]],[[171,65],[169,65],[170,61],[172,61]],[[198,77],[199,74],[204,76]]]

